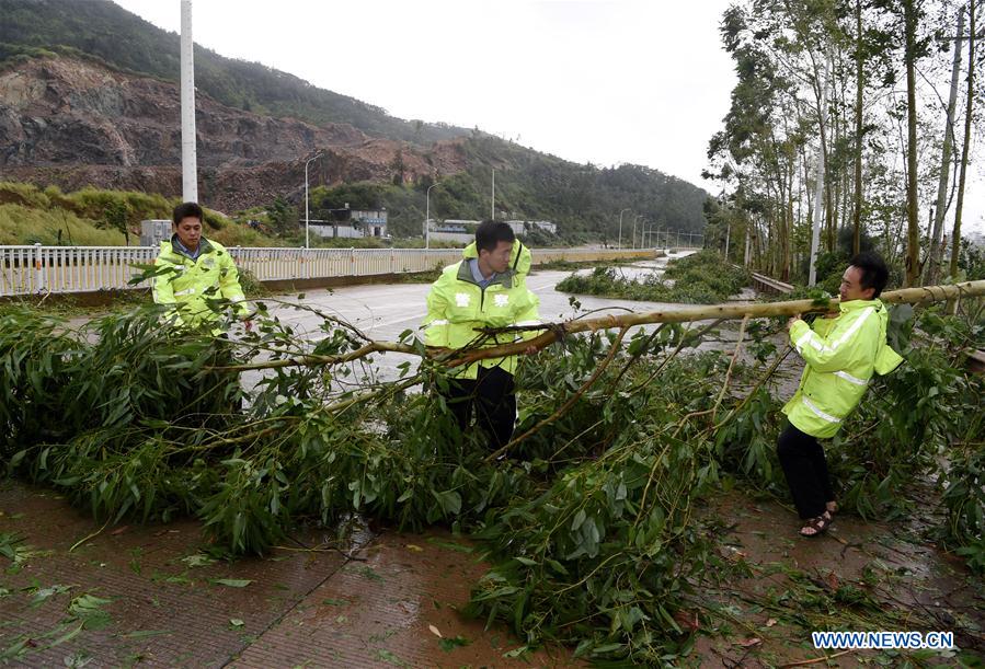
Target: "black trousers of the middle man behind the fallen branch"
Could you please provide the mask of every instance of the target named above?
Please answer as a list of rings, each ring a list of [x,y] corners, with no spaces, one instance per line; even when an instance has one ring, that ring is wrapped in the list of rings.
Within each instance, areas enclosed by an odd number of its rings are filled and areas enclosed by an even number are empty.
[[[479,367],[477,379],[457,379],[446,395],[448,408],[465,431],[476,407],[476,424],[489,436],[490,450],[505,446],[516,424],[516,388],[513,374],[499,367]]]

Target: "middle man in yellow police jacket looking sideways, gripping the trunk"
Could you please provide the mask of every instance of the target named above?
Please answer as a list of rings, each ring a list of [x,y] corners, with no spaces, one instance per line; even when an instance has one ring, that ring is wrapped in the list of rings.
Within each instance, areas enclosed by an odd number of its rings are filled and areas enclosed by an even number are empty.
[[[442,272],[427,293],[424,343],[433,351],[458,349],[482,337],[477,328],[539,323],[537,296],[527,289],[530,251],[516,241],[503,222],[484,221],[476,230],[476,243],[462,259]],[[529,339],[538,333],[524,333]],[[481,347],[516,341],[516,334],[486,337]],[[531,347],[528,353],[535,349]],[[497,449],[513,436],[516,394],[513,376],[516,357],[491,358],[453,369],[446,395],[461,430],[468,428],[472,407],[477,423]]]

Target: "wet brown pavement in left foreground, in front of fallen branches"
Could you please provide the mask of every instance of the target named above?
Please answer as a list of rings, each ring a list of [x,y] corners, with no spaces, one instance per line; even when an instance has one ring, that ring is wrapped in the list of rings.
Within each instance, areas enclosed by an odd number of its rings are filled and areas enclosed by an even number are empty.
[[[211,561],[201,524],[100,523],[54,492],[0,481],[0,665],[23,667],[569,666],[458,613],[486,566],[442,529],[296,531],[264,557]],[[69,549],[78,541],[79,546]],[[337,544],[335,544],[337,545]],[[72,602],[99,602],[88,618]],[[91,600],[90,600],[91,601]],[[468,645],[445,650],[442,639]]]

